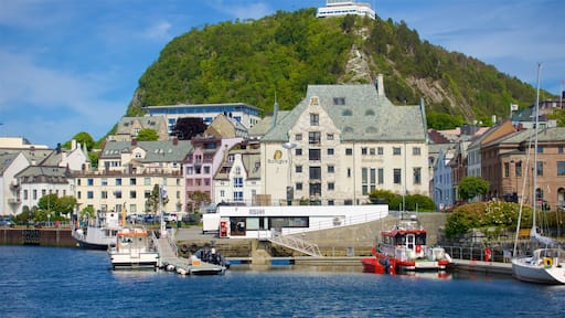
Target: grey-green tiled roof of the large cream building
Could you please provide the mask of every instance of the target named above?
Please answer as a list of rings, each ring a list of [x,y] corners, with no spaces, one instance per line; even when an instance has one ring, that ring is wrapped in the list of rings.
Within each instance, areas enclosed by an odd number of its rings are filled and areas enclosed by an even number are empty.
[[[313,96],[341,131],[342,141],[426,140],[420,106],[395,106],[373,85],[309,85],[306,98],[262,140],[287,141]]]

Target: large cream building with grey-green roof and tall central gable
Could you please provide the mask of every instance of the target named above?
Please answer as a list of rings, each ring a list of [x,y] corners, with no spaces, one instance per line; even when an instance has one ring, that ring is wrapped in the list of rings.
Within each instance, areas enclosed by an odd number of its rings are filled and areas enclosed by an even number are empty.
[[[278,121],[278,120],[277,120]],[[424,107],[394,106],[373,85],[310,85],[260,139],[273,204],[363,204],[376,189],[428,195]]]

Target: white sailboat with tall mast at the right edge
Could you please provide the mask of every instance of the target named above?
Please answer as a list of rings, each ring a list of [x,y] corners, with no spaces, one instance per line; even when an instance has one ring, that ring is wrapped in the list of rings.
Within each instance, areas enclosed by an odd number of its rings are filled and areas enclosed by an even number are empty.
[[[537,93],[535,100],[535,127],[533,129],[534,137],[534,166],[537,167],[537,129],[539,129],[539,112],[540,112],[540,68],[537,65]],[[527,159],[530,159],[530,149],[527,151]],[[534,169],[536,170],[536,169]],[[527,173],[527,169],[526,169]],[[525,178],[524,187],[525,188]],[[550,237],[543,236],[539,227],[536,226],[536,188],[537,188],[537,171],[533,172],[533,218],[532,218],[532,230],[530,231],[530,237],[533,242],[536,242],[540,246],[534,250],[533,255],[524,257],[512,258],[512,275],[523,282],[540,283],[540,284],[565,284],[565,251],[563,251],[558,243]],[[514,255],[516,255],[518,233],[520,230],[520,219],[522,216],[522,206],[524,202],[524,195],[522,193],[522,200],[520,201],[519,222],[516,227],[516,236],[514,243]]]

